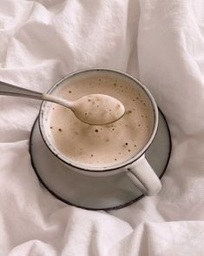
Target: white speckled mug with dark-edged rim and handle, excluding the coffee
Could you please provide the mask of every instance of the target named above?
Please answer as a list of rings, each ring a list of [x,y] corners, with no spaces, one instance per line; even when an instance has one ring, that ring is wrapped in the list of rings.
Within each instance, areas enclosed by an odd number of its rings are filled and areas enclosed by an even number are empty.
[[[39,130],[41,132],[41,136],[45,145],[49,148],[49,151],[52,152],[57,160],[63,161],[63,164],[66,165],[69,170],[73,172],[80,172],[85,175],[91,176],[109,176],[115,175],[119,172],[124,172],[128,175],[128,178],[134,183],[134,185],[145,195],[152,196],[157,194],[161,190],[161,181],[155,174],[152,167],[148,164],[148,160],[145,158],[145,153],[148,150],[148,147],[152,144],[157,128],[158,128],[158,108],[155,103],[155,99],[152,94],[148,91],[144,84],[141,84],[139,80],[135,77],[128,75],[122,71],[115,71],[109,69],[89,69],[83,71],[76,71],[71,73],[65,77],[63,77],[60,81],[58,81],[53,87],[48,91],[49,94],[55,94],[60,86],[64,86],[64,84],[68,83],[69,80],[75,79],[77,77],[89,77],[92,74],[100,76],[102,74],[109,74],[109,76],[122,76],[125,79],[131,81],[135,86],[140,86],[141,90],[144,91],[148,100],[151,103],[152,111],[154,112],[154,125],[151,131],[151,135],[148,138],[146,145],[144,145],[140,152],[137,152],[133,158],[130,158],[123,163],[117,165],[110,165],[105,167],[89,167],[79,165],[78,163],[73,162],[69,158],[65,157],[59,150],[57,150],[56,146],[51,141],[48,135],[48,115],[51,108],[51,104],[49,102],[43,102],[40,108],[39,113]],[[57,171],[56,171],[57,172]]]

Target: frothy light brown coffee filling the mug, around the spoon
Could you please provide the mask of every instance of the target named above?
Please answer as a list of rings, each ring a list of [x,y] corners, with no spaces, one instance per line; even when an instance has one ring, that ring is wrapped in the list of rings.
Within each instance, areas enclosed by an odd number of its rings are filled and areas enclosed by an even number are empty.
[[[154,127],[154,111],[146,92],[122,76],[80,77],[59,86],[57,96],[76,100],[92,93],[119,99],[125,115],[110,125],[87,125],[61,105],[51,104],[48,136],[58,152],[78,165],[106,167],[133,158],[146,145]]]

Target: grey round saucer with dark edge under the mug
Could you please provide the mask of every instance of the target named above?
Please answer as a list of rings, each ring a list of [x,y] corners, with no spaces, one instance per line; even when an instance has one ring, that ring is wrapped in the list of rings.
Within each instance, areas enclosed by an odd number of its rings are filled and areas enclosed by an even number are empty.
[[[146,158],[160,179],[167,169],[170,154],[170,131],[164,115],[159,111],[158,131]],[[57,199],[69,205],[89,210],[114,210],[144,197],[124,172],[92,177],[69,170],[69,166],[57,159],[44,144],[38,118],[30,134],[30,158],[41,183]]]

